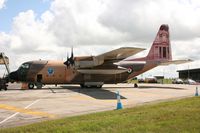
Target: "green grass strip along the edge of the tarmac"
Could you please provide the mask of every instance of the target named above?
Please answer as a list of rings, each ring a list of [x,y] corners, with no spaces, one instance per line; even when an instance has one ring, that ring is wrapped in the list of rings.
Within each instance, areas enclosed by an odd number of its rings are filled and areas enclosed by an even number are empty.
[[[199,133],[200,97],[0,129],[1,133]]]

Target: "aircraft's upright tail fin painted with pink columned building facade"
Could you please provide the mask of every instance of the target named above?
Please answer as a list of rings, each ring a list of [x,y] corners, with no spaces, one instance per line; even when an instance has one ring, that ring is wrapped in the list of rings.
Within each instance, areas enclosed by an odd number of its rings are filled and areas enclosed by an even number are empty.
[[[168,25],[163,24],[160,26],[146,59],[156,61],[172,60]]]

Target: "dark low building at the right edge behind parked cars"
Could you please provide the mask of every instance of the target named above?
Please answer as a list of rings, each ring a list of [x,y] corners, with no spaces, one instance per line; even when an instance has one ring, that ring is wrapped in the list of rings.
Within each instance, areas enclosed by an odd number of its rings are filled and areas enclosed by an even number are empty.
[[[186,69],[186,70],[178,70],[180,79],[192,79],[195,81],[200,81],[200,68],[196,69]]]

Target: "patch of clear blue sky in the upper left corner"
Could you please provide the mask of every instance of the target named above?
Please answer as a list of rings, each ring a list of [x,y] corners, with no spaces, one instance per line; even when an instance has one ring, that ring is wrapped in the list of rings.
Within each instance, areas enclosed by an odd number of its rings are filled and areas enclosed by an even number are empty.
[[[33,10],[40,16],[50,7],[50,0],[7,0],[5,7],[0,10],[0,31],[9,32],[12,20],[20,12]]]

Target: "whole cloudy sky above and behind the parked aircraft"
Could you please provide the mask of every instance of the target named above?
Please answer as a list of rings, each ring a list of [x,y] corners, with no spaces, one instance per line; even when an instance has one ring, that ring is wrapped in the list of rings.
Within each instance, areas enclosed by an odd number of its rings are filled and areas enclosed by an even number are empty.
[[[177,77],[200,65],[199,0],[0,0],[0,52],[15,70],[25,61],[65,60],[126,47],[147,50],[161,24],[168,24],[174,59],[185,65],[157,67],[144,75]],[[0,73],[4,73],[1,66]]]

